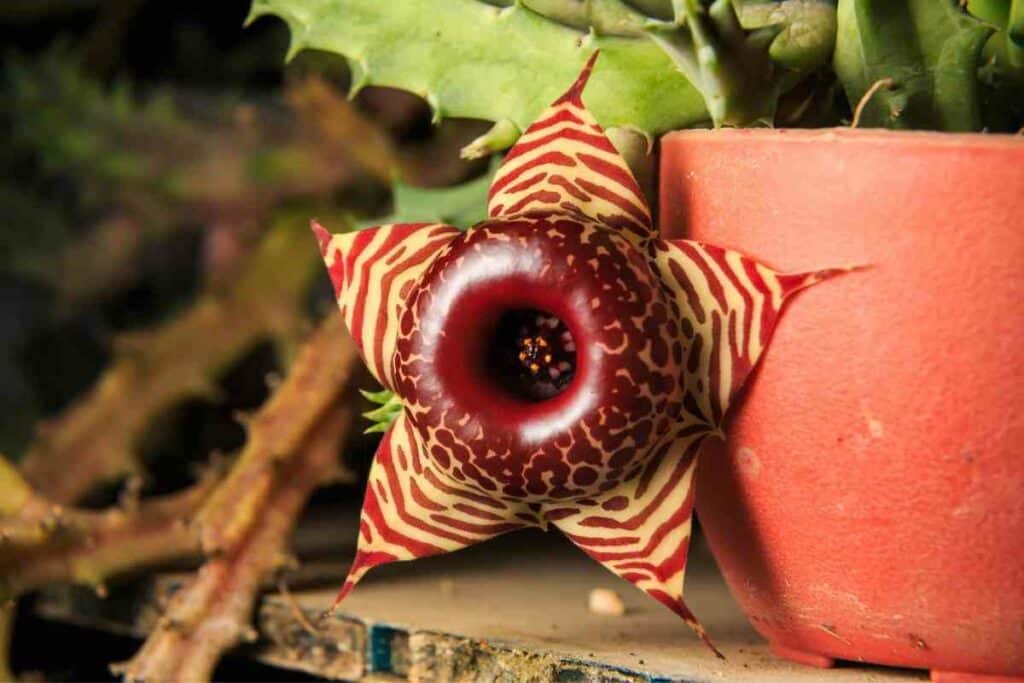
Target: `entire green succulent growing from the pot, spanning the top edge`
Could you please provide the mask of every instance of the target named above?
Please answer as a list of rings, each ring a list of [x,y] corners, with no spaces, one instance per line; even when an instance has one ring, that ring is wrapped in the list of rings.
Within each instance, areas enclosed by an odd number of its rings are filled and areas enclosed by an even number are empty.
[[[495,122],[467,150],[474,156],[511,145],[596,48],[604,56],[588,105],[606,128],[648,140],[706,125],[840,125],[878,82],[888,86],[872,91],[861,125],[1015,131],[1024,124],[1019,2],[964,4],[254,0],[250,20],[283,18],[290,54],[347,57],[353,90],[397,87],[437,119]],[[837,78],[845,101],[831,96]]]

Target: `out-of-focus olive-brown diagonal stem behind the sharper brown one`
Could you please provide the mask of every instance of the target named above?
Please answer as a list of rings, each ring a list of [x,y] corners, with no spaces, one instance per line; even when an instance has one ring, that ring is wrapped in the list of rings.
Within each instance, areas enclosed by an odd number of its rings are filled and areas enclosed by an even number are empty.
[[[40,427],[25,477],[51,501],[71,503],[97,483],[141,473],[135,445],[155,416],[214,394],[216,375],[262,339],[297,337],[318,266],[311,251],[304,221],[279,219],[229,290],[126,337],[93,388]]]

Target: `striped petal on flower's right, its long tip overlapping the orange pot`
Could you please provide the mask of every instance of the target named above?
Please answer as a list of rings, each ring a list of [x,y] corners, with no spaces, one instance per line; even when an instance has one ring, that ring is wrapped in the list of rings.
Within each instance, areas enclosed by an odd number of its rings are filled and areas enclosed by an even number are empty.
[[[699,242],[659,241],[656,247],[654,262],[683,317],[684,408],[717,430],[768,345],[786,299],[847,269],[780,274]]]

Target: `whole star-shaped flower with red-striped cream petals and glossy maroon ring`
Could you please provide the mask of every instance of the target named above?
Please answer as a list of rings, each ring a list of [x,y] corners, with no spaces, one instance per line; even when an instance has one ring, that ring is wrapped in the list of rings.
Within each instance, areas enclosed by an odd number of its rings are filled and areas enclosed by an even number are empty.
[[[339,602],[379,564],[551,524],[711,644],[682,596],[697,452],[786,297],[836,271],[658,239],[583,104],[596,56],[470,230],[313,224],[348,329],[402,403]]]

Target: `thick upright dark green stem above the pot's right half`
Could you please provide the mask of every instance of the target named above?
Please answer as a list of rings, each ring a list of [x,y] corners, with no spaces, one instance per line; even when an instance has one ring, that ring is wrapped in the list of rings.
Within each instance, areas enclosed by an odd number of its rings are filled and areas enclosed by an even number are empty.
[[[979,65],[992,29],[955,0],[840,0],[835,69],[866,126],[980,130]]]

